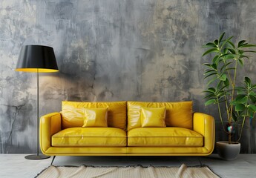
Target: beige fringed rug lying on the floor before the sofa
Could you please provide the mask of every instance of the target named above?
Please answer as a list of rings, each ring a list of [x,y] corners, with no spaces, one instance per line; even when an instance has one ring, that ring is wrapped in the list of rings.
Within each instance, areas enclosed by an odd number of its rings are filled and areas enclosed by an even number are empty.
[[[51,165],[37,176],[38,178],[69,178],[69,177],[86,177],[86,178],[170,178],[170,177],[218,177],[208,167],[187,167],[181,165],[180,168],[171,167],[55,167]]]

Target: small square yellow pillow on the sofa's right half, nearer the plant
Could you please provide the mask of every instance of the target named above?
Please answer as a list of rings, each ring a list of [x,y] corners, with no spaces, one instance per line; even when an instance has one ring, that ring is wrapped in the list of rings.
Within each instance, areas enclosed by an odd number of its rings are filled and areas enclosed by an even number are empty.
[[[142,128],[164,128],[165,107],[163,108],[141,108],[140,120]]]

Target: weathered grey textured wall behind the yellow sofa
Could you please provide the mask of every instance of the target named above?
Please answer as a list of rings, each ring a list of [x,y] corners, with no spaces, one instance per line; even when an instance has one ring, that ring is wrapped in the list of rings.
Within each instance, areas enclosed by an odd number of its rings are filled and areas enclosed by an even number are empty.
[[[255,9],[253,0],[1,0],[0,153],[36,152],[36,74],[15,71],[22,45],[56,53],[60,72],[40,75],[40,116],[62,100],[193,100],[217,118],[203,105],[201,45],[223,31],[256,43]],[[256,82],[254,60],[244,73]],[[244,132],[242,152],[256,153],[255,129]]]

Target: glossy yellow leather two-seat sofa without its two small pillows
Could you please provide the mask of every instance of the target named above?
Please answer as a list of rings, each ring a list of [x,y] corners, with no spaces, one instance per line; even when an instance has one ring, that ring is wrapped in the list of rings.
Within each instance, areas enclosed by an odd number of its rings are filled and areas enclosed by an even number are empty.
[[[142,127],[141,108],[165,108],[166,127]],[[108,108],[108,127],[84,125],[85,108]],[[214,149],[214,118],[192,102],[62,102],[40,119],[40,147],[50,156],[206,156]]]

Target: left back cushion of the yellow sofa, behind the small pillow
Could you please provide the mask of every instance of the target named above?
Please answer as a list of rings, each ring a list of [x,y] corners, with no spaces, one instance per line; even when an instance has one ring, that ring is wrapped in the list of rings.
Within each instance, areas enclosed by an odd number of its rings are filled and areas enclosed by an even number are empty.
[[[82,127],[84,108],[107,108],[108,127],[126,129],[126,102],[62,102],[62,128]]]

